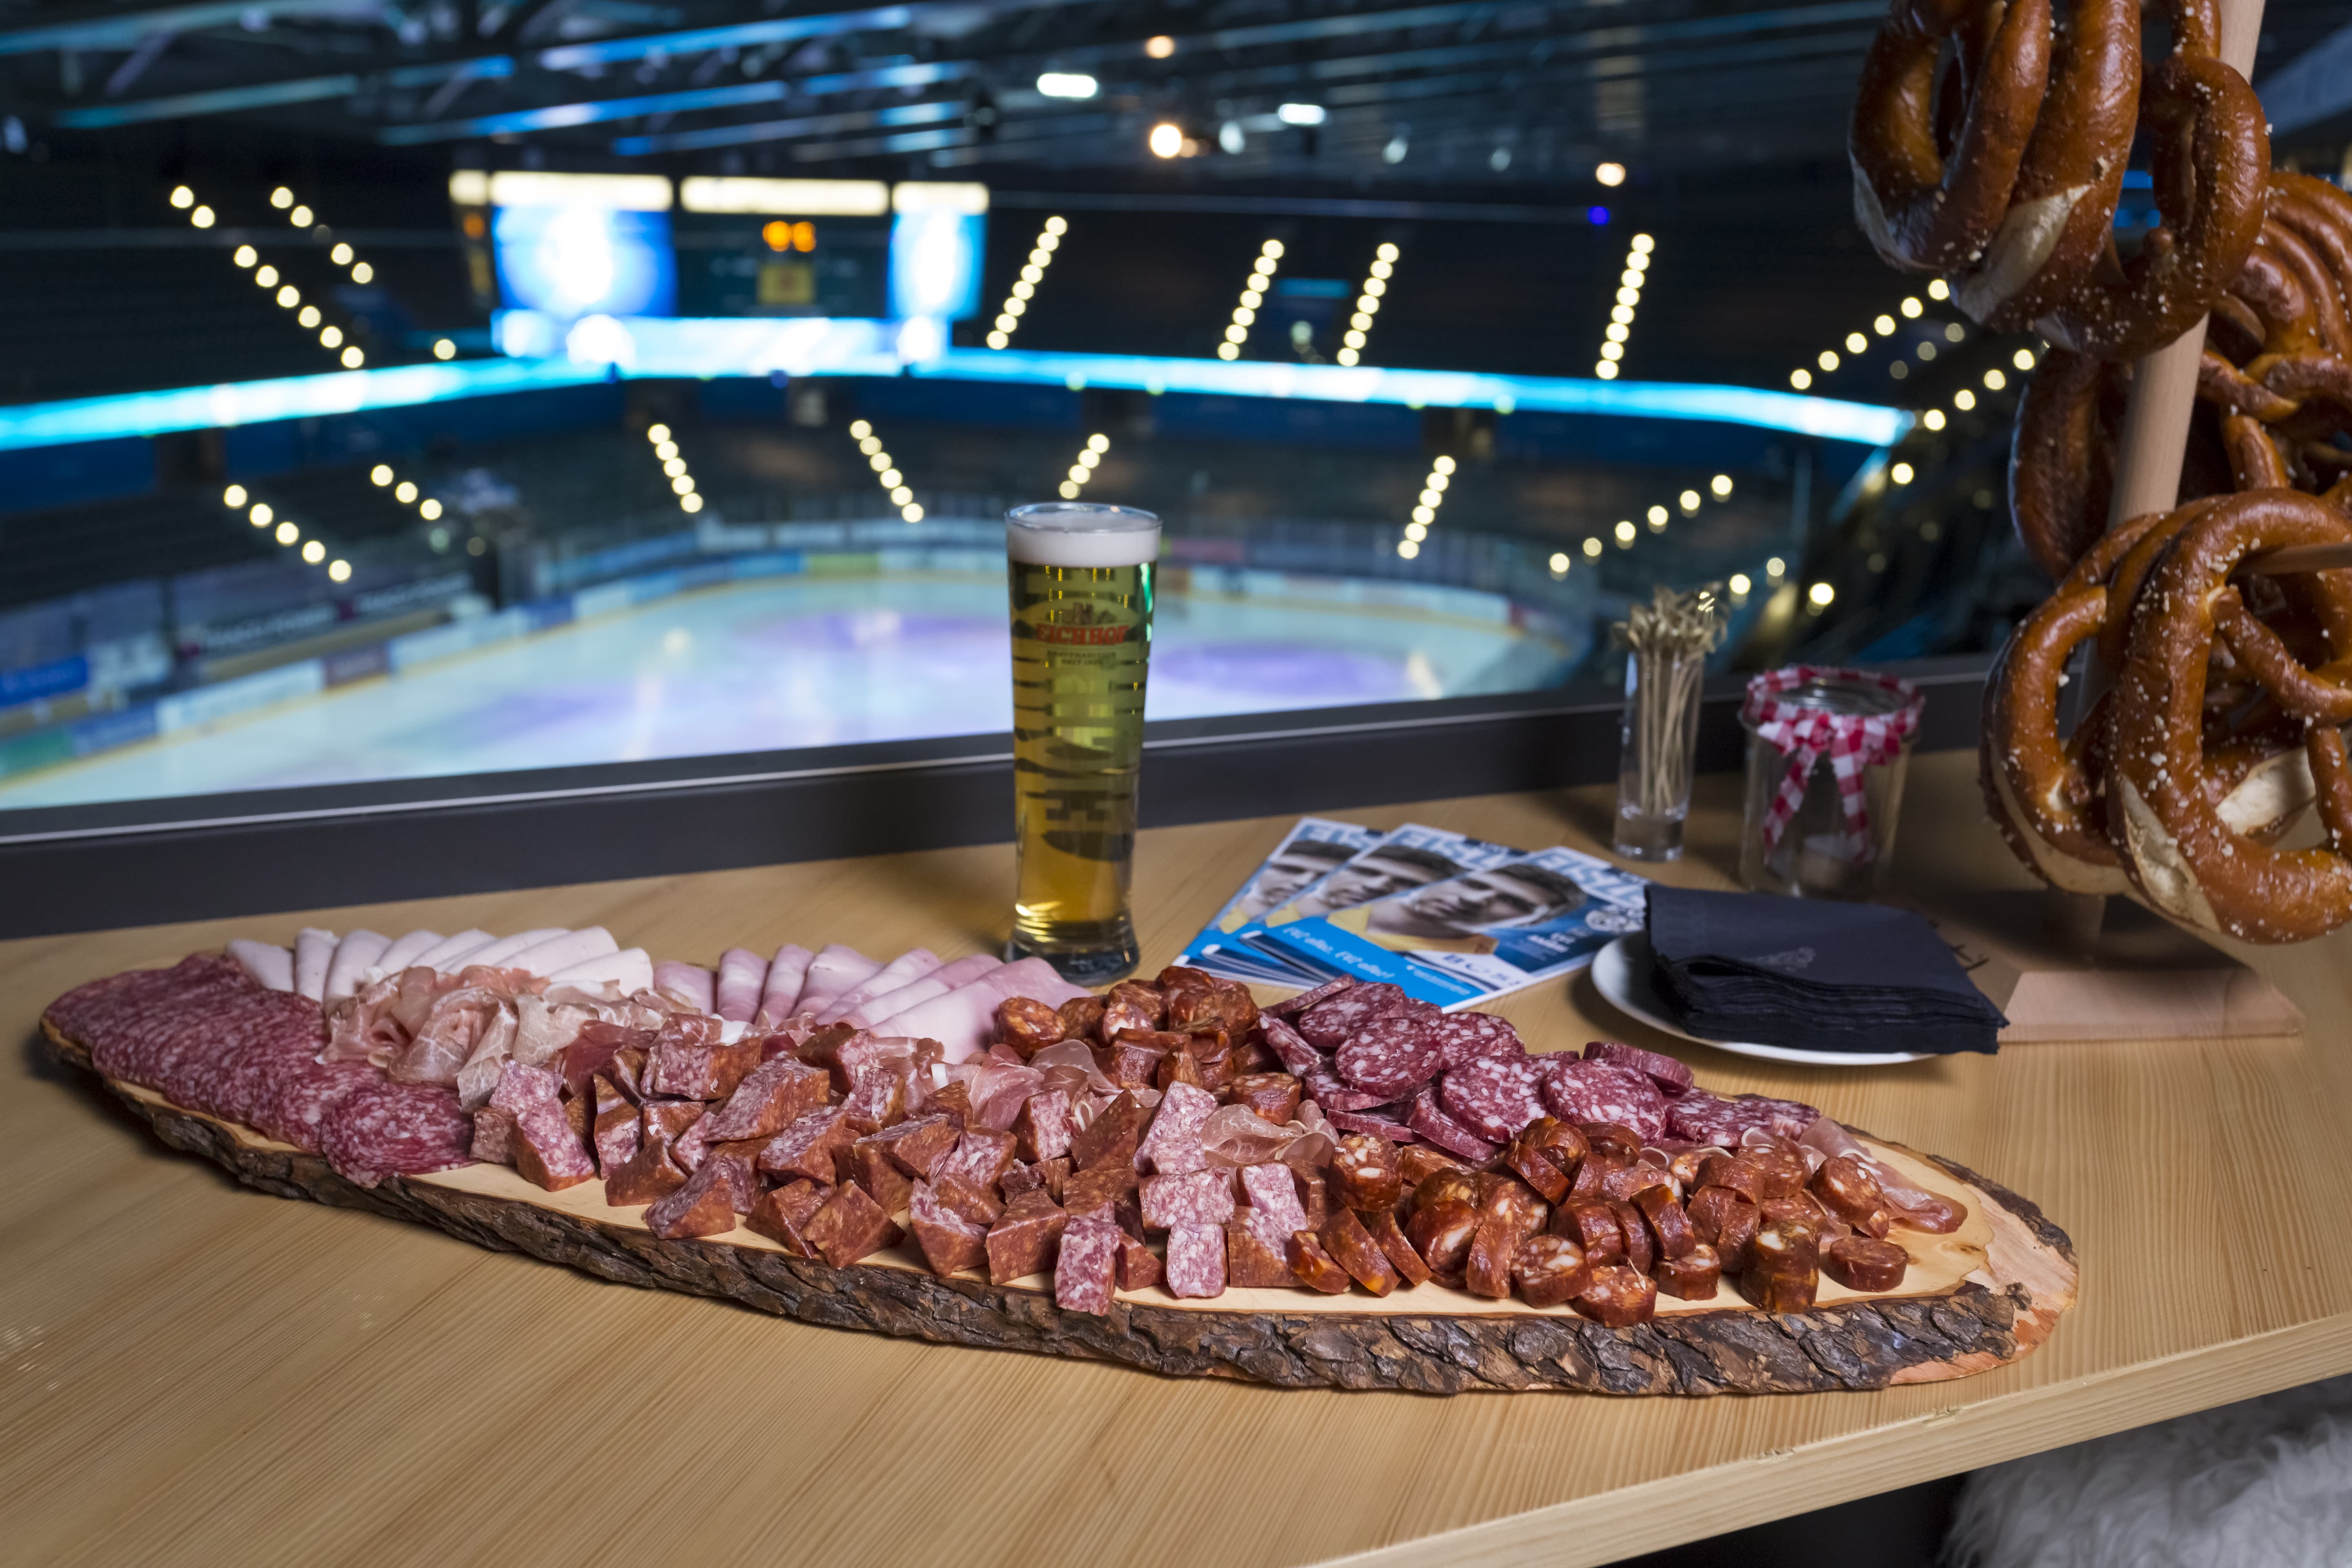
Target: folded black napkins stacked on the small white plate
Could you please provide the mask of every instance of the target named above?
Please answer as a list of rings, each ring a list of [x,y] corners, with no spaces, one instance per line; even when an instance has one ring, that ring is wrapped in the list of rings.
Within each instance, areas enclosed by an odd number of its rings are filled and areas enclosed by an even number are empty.
[[[1703,1039],[1802,1051],[1994,1051],[2006,1018],[1919,914],[1649,886],[1658,997]]]

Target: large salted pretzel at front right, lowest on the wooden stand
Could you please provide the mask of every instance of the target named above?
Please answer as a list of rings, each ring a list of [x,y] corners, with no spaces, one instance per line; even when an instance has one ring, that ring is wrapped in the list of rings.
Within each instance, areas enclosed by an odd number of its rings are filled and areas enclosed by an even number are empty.
[[[2352,651],[2352,623],[2331,618],[2331,665],[2296,677],[2279,668],[2277,649],[2237,642],[2244,618],[2230,588],[2249,555],[2345,541],[2352,524],[2317,498],[2251,491],[2213,501],[2180,527],[2150,574],[2110,703],[2105,825],[2140,896],[2190,926],[2291,943],[2352,919],[2352,773],[2343,733],[2324,717],[2333,698],[2307,689],[2326,686]],[[2347,602],[2340,592],[2321,599]],[[2237,832],[2204,788],[2206,668],[2218,632],[2281,708],[2319,715],[2305,719],[2303,750],[2328,832],[2324,849],[2281,851]]]

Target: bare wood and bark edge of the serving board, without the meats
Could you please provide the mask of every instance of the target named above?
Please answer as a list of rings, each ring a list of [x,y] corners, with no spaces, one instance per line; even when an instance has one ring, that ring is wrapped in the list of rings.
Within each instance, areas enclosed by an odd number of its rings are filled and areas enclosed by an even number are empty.
[[[1171,1375],[1423,1394],[1877,1389],[2016,1361],[2074,1305],[2074,1246],[2034,1204],[1947,1159],[1865,1138],[1872,1154],[1969,1211],[1950,1237],[1893,1234],[1912,1267],[1905,1288],[1889,1295],[1860,1295],[1823,1276],[1813,1312],[1773,1314],[1743,1302],[1726,1279],[1712,1302],[1661,1295],[1653,1321],[1604,1328],[1566,1307],[1494,1302],[1437,1284],[1388,1298],[1225,1291],[1176,1300],[1150,1288],[1120,1291],[1110,1314],[1094,1316],[1056,1307],[1044,1274],[1009,1286],[978,1274],[938,1279],[910,1241],[847,1269],[793,1258],[741,1227],[666,1241],[644,1227],[642,1208],[607,1206],[600,1182],[546,1192],[508,1166],[360,1187],[318,1154],[96,1074],[89,1053],[47,1018],[42,1034],[59,1060],[99,1077],[167,1145],[278,1197],[367,1208],[597,1279],[715,1295],[828,1328],[1124,1361]]]

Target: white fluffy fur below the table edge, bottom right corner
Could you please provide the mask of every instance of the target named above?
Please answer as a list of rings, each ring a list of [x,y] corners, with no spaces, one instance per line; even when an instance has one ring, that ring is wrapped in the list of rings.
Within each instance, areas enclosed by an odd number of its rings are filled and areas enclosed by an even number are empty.
[[[1969,1476],[1957,1568],[2347,1568],[2352,1378]]]

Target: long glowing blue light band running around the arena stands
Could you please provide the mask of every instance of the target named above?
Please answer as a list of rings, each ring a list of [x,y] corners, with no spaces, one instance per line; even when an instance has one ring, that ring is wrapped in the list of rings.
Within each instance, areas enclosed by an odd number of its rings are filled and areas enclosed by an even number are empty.
[[[1296,397],[1310,402],[1381,402],[1432,409],[1597,414],[1613,418],[1689,418],[1792,430],[1823,440],[1886,447],[1912,425],[1903,409],[1745,386],[1672,381],[1576,381],[1566,376],[1479,376],[1268,360],[1155,360],[1143,355],[1073,355],[946,348],[927,322],[863,320],[616,320],[586,317],[560,327],[529,310],[501,313],[494,329],[508,350],[534,357],[402,364],[191,386],[165,393],[75,397],[0,407],[0,451],[61,447],[167,430],[214,430],[400,409],[459,397],[489,397],[612,376],[891,376],[1018,386],[1211,393],[1225,397]],[[574,357],[576,355],[576,357]],[[924,357],[915,357],[924,355]]]

